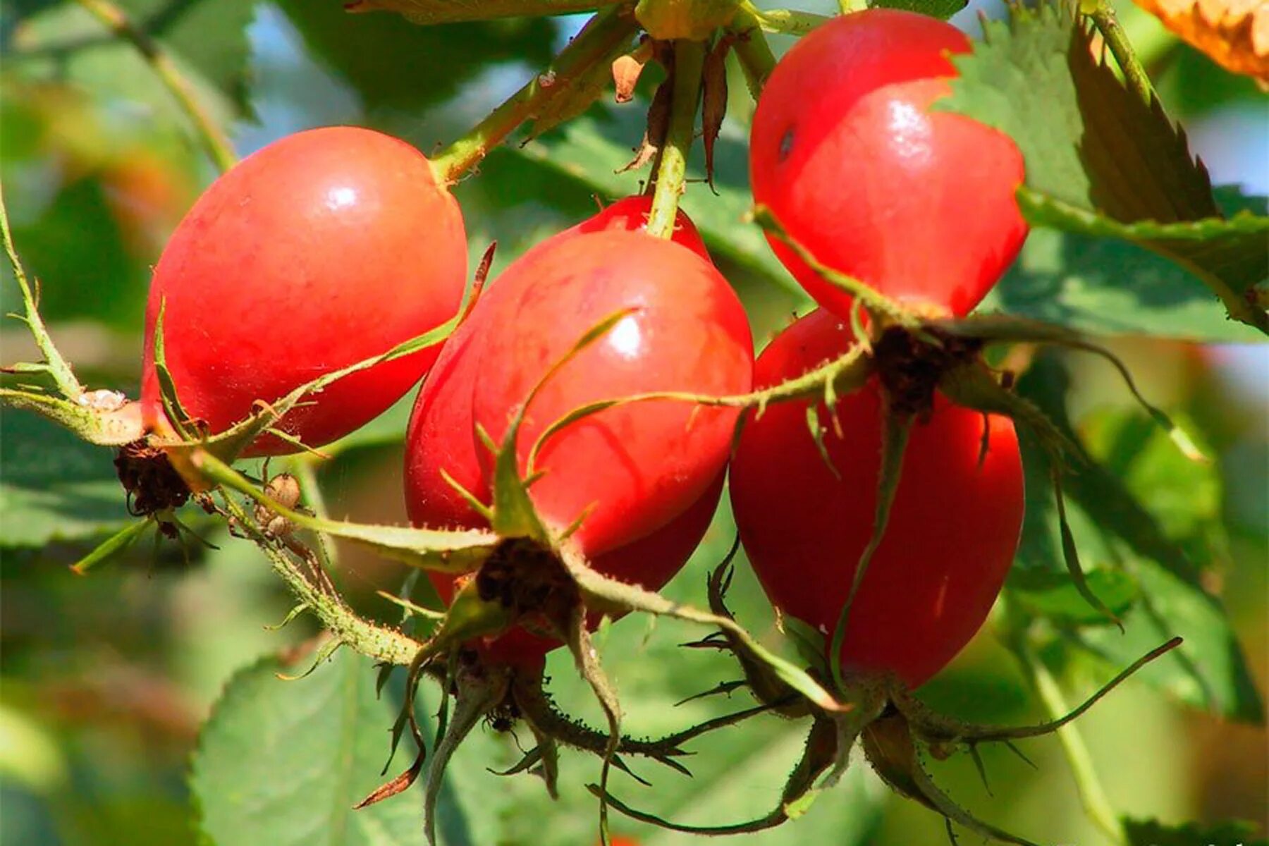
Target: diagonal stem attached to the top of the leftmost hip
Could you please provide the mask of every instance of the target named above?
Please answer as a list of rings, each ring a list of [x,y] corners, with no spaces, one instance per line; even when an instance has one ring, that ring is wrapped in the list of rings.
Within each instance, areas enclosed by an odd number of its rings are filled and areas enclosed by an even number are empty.
[[[623,38],[633,37],[633,19],[619,11],[621,8],[613,8],[591,18],[544,71],[534,74],[524,88],[490,112],[464,136],[433,156],[431,170],[437,181],[444,185],[457,183],[494,147],[532,118],[547,99],[555,96],[560,86],[594,67]]]

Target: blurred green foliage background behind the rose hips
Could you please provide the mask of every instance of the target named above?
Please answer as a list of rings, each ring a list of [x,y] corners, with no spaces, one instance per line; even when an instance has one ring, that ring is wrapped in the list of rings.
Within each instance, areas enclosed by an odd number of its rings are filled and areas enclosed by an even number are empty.
[[[374,126],[430,151],[523,84],[582,20],[420,29],[390,15],[344,16],[339,3],[325,0],[123,5],[171,48],[240,155],[288,132],[331,123]],[[976,29],[971,13],[962,13],[957,23]],[[1179,44],[1131,6],[1123,13],[1165,104],[1188,127],[1213,181],[1242,183],[1251,193],[1265,193],[1269,110],[1263,94]],[[780,49],[788,44],[775,43]],[[82,381],[135,394],[148,269],[214,170],[136,52],[75,4],[6,1],[0,48],[0,179],[18,249],[42,283],[42,311]],[[722,195],[693,185],[687,207],[745,297],[755,337],[761,340],[806,302],[787,278],[778,278],[778,265],[760,238],[736,223],[735,212],[745,202],[744,126],[750,108],[744,86],[735,84],[720,151]],[[607,200],[638,190],[642,175],[613,174],[624,162],[624,147],[638,141],[638,104],[600,107],[588,120],[565,141],[555,133],[523,148],[500,150],[478,175],[457,186],[473,255],[489,241],[499,242],[495,273],[527,245],[585,217],[594,195]],[[1022,279],[1018,288],[1009,287],[1013,282],[1006,280],[1001,292],[1006,301],[1013,292],[1025,293]],[[6,268],[5,311],[18,307],[14,293]],[[18,321],[0,327],[0,342],[4,363],[36,358]],[[1223,599],[1263,690],[1269,680],[1266,348],[1133,336],[1115,337],[1113,346],[1146,396],[1184,420],[1214,458],[1199,482],[1188,471],[1170,473],[1166,460],[1154,477],[1154,464],[1118,467],[1129,487],[1143,491],[1140,496],[1166,517],[1170,530],[1187,524],[1173,537],[1202,559],[1203,586]],[[1098,444],[1105,445],[1108,429],[1141,417],[1140,411],[1104,363],[1057,356],[1049,364],[1063,368],[1070,381],[1065,403],[1072,425],[1090,450],[1109,462],[1109,448],[1099,452]],[[400,439],[407,401],[319,468],[335,516],[405,520]],[[303,643],[315,630],[303,619],[280,632],[265,629],[283,618],[288,597],[258,550],[222,531],[208,538],[216,549],[142,545],[127,561],[88,577],[70,573],[66,564],[126,516],[109,452],[80,445],[10,410],[4,411],[0,435],[0,841],[13,846],[199,842],[187,775],[199,726],[235,671]],[[731,537],[730,516],[720,514],[708,542],[670,594],[703,601],[704,575]],[[343,548],[336,578],[358,608],[396,619],[376,591],[400,589],[404,573],[397,567]],[[773,635],[770,613],[744,562],[733,605],[754,630]],[[628,619],[602,635],[632,733],[665,733],[749,704],[747,696],[735,694],[730,703],[670,706],[736,675],[718,656],[676,647],[699,634]],[[345,656],[338,666],[288,682],[286,696],[305,701],[306,691],[317,695],[322,674],[346,670],[369,680],[372,671],[364,663]],[[1108,665],[1079,656],[1063,653],[1053,665],[1071,703],[1109,676]],[[552,656],[549,675],[558,701],[599,726],[599,714],[567,661]],[[992,624],[921,695],[964,719],[1024,723],[1043,717]],[[378,728],[386,732],[388,703],[379,717]],[[321,727],[320,720],[313,723],[315,732]],[[698,742],[693,748],[699,755],[689,762],[695,778],[641,762],[640,774],[655,776],[656,786],[641,788],[617,776],[614,791],[683,822],[758,816],[777,802],[805,729],[759,718]],[[1222,719],[1155,686],[1129,682],[1081,719],[1080,729],[1119,813],[1171,822],[1242,818],[1264,833],[1269,746],[1263,724]],[[372,753],[386,755],[386,733],[374,737]],[[1080,812],[1058,742],[1029,741],[1024,751],[1034,769],[1008,751],[985,752],[990,794],[964,756],[935,764],[933,771],[958,800],[1006,830],[1042,842],[1107,842]],[[286,781],[283,758],[270,775]],[[487,727],[477,729],[458,753],[450,772],[453,795],[447,800],[456,818],[466,813],[473,827],[466,836],[445,830],[452,838],[447,842],[464,837],[504,846],[593,842],[594,803],[584,785],[598,778],[598,762],[566,753],[563,795],[549,803],[536,779],[486,771],[516,758],[515,741]],[[301,795],[296,802],[329,808],[365,794],[378,780],[381,761],[373,760],[346,786],[346,795]],[[269,761],[260,766],[268,769]],[[404,756],[392,766],[404,767]],[[414,826],[418,797],[411,793],[393,802],[393,813]],[[410,828],[414,840],[313,835],[296,842],[414,843],[421,842],[418,828]],[[647,846],[692,841],[621,818],[614,831]],[[822,797],[805,821],[739,840],[898,846],[944,842],[944,837],[939,818],[891,797],[860,761],[846,784]],[[256,842],[272,846],[273,841],[221,838],[221,846]]]

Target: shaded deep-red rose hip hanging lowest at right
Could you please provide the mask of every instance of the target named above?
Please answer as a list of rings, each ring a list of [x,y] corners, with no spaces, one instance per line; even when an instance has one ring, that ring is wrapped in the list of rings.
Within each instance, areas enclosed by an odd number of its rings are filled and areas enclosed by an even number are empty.
[[[758,386],[775,384],[844,353],[850,330],[816,311],[758,359]],[[881,464],[876,379],[820,408],[824,463],[806,403],[780,403],[747,421],[731,465],[736,526],[772,602],[831,637],[859,554],[872,535]],[[987,452],[980,464],[983,426]],[[978,630],[1004,583],[1023,520],[1023,471],[1013,422],[987,419],[935,393],[912,424],[884,539],[850,608],[841,662],[892,671],[915,687]]]

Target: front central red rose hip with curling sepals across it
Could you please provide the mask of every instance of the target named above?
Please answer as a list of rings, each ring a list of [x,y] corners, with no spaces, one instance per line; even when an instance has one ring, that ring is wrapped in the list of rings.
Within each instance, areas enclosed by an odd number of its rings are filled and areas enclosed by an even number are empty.
[[[542,384],[519,438],[522,472],[537,438],[599,400],[646,392],[746,392],[753,340],[745,311],[708,261],[670,241],[609,231],[534,250],[482,303],[491,332],[472,396],[476,422],[500,441],[511,416],[588,331],[628,309],[604,337]],[[538,453],[530,496],[589,556],[681,514],[727,460],[736,412],[678,401],[621,405],[570,425]],[[481,453],[486,478],[492,463]]]

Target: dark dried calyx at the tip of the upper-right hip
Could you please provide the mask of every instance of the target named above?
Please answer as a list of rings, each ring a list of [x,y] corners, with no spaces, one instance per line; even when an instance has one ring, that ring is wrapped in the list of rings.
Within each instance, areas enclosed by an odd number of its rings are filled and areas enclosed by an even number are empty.
[[[976,337],[959,337],[925,327],[939,344],[930,344],[910,331],[892,326],[873,344],[877,374],[891,408],[924,419],[934,407],[934,388],[948,370],[975,360],[982,350]]]

